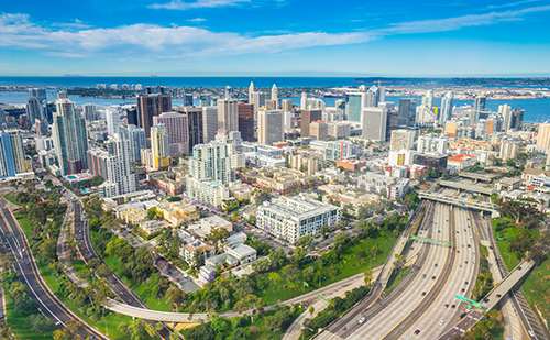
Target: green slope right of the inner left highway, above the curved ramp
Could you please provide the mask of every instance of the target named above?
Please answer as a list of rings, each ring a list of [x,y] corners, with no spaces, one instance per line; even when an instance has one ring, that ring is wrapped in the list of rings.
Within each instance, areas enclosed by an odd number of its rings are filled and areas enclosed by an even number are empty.
[[[172,305],[165,298],[156,298],[152,295],[152,288],[156,285],[156,282],[162,277],[158,273],[154,273],[151,277],[143,284],[135,282],[134,279],[128,279],[122,275],[122,260],[119,256],[108,256],[103,257],[105,262],[121,277],[124,283],[140,297],[141,300],[147,305],[148,308],[160,311],[172,311]],[[113,264],[114,263],[114,264]]]

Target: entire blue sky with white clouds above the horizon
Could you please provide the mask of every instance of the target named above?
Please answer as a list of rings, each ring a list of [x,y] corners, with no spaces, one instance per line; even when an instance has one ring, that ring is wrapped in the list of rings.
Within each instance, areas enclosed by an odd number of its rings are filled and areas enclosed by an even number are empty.
[[[2,1],[0,76],[550,76],[550,1]]]

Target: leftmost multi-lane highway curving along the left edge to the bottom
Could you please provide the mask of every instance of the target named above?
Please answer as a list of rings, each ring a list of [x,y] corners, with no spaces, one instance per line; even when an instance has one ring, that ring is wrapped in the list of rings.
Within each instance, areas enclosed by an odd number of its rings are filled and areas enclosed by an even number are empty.
[[[22,235],[23,231],[20,229],[19,223],[15,222],[11,211],[6,208],[6,200],[0,199],[0,211],[2,218],[0,219],[0,233],[2,237],[13,234],[12,238],[6,238],[4,244],[18,261],[13,267],[19,275],[22,283],[26,284],[29,296],[36,301],[40,311],[54,322],[58,328],[64,328],[70,320],[81,321],[86,333],[99,339],[108,339],[95,328],[84,322],[80,318],[70,311],[51,290],[45,284],[40,270],[34,261],[34,256],[30,251],[26,238]],[[26,264],[29,263],[29,264]]]

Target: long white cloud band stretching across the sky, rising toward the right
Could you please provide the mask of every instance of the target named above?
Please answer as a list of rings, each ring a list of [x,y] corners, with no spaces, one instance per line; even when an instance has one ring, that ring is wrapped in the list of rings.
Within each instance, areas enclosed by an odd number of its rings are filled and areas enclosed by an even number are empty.
[[[218,0],[221,1],[221,0]],[[527,13],[549,11],[550,6],[438,20],[392,24],[385,29],[344,33],[256,32],[255,35],[212,32],[196,26],[133,24],[113,29],[51,29],[26,14],[0,14],[0,48],[33,50],[62,57],[157,61],[205,58],[297,51],[315,46],[361,44],[385,35],[459,30],[521,20]],[[201,22],[204,19],[191,19]],[[84,24],[75,20],[75,24]]]

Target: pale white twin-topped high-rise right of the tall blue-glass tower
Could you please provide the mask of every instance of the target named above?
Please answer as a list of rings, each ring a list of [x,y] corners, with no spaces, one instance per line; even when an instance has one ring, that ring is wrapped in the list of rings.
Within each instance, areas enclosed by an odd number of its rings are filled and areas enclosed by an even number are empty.
[[[98,187],[99,197],[134,193],[139,177],[132,169],[130,141],[116,135],[107,142],[107,151],[95,147],[87,152],[89,171],[106,179]]]

